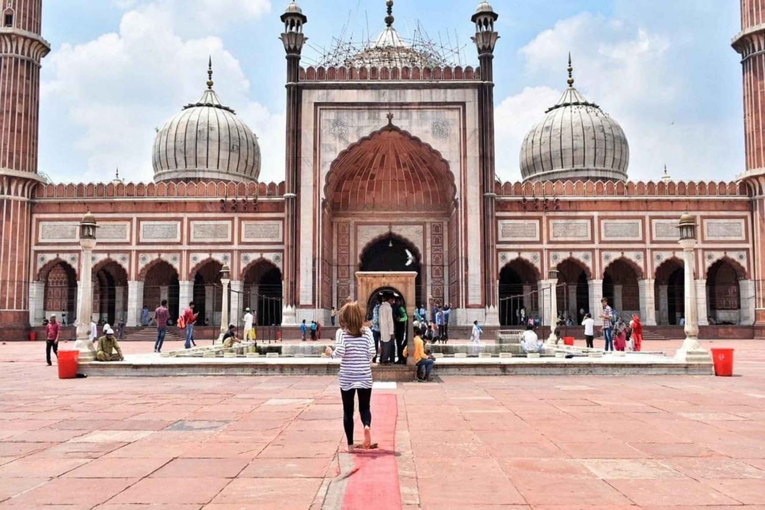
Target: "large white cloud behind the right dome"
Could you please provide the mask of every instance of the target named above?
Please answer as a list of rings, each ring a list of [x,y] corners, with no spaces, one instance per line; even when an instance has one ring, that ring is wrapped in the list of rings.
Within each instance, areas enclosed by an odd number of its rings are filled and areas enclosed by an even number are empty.
[[[690,49],[687,41],[682,48],[675,47],[676,42],[671,34],[588,13],[558,21],[538,34],[519,50],[526,59],[520,80],[552,84],[558,92],[526,88],[497,107],[500,177],[520,177],[523,137],[565,88],[571,51],[575,86],[627,134],[630,178],[656,179],[668,164],[675,178],[733,179],[738,158],[731,158],[731,148],[743,150],[737,147],[738,133],[721,126],[719,119],[698,115],[707,98],[687,83],[685,70],[677,66],[677,59],[687,57],[684,52]]]

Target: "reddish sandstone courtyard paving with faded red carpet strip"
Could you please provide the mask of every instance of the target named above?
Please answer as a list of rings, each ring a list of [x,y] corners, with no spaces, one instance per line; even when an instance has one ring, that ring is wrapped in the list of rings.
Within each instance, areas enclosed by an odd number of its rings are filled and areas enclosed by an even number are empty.
[[[0,510],[765,510],[765,343],[704,345],[736,376],[379,385],[350,455],[334,377],[60,380],[8,343]]]

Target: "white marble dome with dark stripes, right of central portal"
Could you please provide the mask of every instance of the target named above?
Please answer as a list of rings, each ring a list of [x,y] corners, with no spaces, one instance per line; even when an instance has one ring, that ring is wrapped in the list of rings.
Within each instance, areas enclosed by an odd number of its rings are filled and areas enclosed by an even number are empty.
[[[630,145],[614,119],[568,89],[523,140],[523,180],[627,180]]]

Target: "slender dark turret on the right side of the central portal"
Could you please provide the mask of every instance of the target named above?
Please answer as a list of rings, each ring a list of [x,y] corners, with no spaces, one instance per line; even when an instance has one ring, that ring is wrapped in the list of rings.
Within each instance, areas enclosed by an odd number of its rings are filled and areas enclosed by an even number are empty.
[[[494,30],[494,23],[500,16],[494,12],[489,2],[483,0],[478,5],[471,21],[476,25],[476,34],[472,37],[478,49],[481,86],[478,97],[479,159],[481,184],[483,189],[483,279],[485,283],[484,300],[487,308],[487,326],[499,326],[499,291],[497,289],[499,271],[496,260],[496,214],[494,202],[495,165],[494,165],[494,47],[500,34]]]

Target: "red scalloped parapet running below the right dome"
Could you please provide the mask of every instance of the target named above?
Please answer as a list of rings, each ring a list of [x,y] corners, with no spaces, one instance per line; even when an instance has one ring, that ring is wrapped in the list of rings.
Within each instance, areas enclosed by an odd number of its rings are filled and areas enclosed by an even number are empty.
[[[529,182],[497,181],[494,193],[502,198],[564,198],[564,197],[750,197],[744,183],[709,181],[592,181],[548,180]]]

